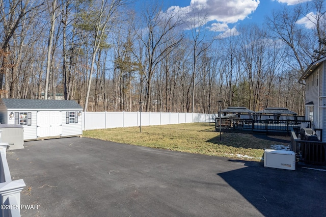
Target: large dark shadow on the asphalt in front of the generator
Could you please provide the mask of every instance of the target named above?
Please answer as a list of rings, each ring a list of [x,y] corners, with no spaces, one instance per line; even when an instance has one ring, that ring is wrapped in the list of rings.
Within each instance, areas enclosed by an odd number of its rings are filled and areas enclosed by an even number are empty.
[[[296,171],[264,168],[254,162],[217,174],[264,216],[326,216],[326,172],[297,167]],[[258,167],[258,168],[257,168]],[[258,170],[258,172],[257,172]]]

